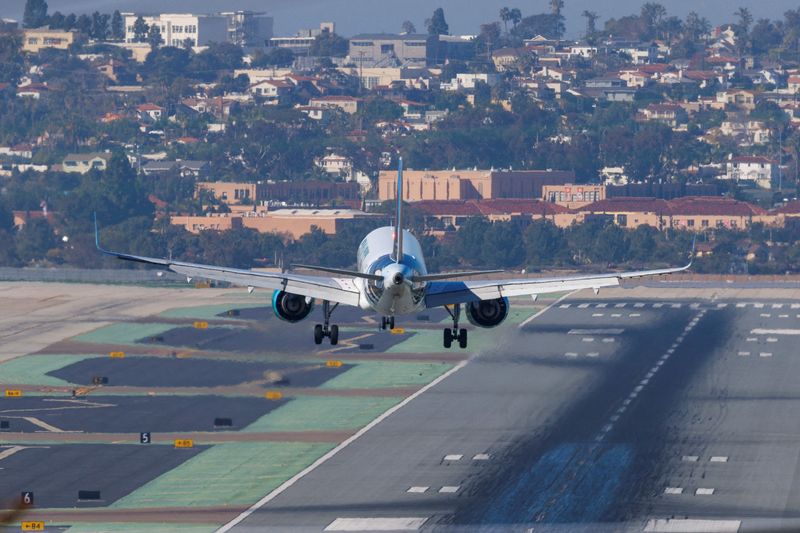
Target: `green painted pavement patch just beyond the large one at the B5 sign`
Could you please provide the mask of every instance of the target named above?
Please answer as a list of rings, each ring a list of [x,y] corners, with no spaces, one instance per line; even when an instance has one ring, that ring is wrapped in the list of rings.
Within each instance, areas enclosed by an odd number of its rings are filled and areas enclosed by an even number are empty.
[[[357,429],[398,403],[401,397],[299,396],[262,416],[242,431],[337,431]]]

